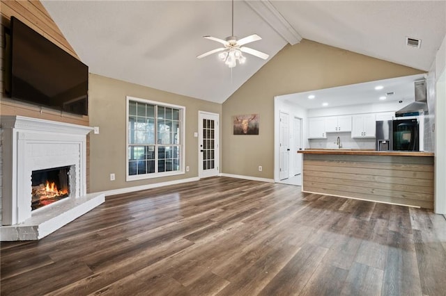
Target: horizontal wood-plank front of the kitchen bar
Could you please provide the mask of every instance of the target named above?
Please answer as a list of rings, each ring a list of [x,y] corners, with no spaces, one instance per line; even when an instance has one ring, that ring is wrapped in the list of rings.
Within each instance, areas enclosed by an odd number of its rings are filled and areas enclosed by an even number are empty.
[[[433,153],[306,149],[302,192],[433,208]]]

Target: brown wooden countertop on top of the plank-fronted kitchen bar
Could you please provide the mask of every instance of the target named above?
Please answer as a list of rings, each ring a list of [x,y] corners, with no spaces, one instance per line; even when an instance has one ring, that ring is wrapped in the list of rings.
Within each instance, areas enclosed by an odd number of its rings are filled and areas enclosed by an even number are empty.
[[[434,156],[425,151],[375,151],[369,149],[305,149],[301,154],[374,155],[374,156]]]

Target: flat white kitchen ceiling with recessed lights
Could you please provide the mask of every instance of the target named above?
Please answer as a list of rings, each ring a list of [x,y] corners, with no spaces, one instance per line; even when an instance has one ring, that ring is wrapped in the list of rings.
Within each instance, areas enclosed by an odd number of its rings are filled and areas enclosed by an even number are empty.
[[[298,104],[305,109],[382,104],[390,101],[408,103],[415,100],[414,82],[424,78],[424,74],[410,75],[394,79],[339,86],[337,88],[285,94],[279,96],[279,98],[293,104]],[[378,85],[382,86],[383,89],[375,90],[375,87]],[[393,94],[387,94],[388,92],[393,92]],[[314,95],[314,98],[309,99],[309,95]],[[380,97],[385,97],[385,99],[380,100]],[[328,105],[323,106],[323,103],[327,103]]]

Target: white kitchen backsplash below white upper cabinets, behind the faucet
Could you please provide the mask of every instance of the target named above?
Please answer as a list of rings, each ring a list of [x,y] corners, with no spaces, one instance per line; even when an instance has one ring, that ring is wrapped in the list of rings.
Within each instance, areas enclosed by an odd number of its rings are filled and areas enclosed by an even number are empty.
[[[327,133],[326,139],[310,139],[310,148],[337,149],[337,137],[341,139],[342,148],[375,149],[375,138],[351,138],[351,133]]]

